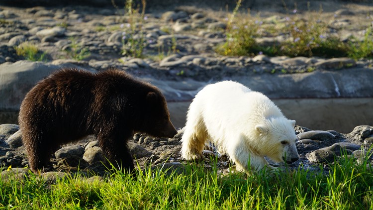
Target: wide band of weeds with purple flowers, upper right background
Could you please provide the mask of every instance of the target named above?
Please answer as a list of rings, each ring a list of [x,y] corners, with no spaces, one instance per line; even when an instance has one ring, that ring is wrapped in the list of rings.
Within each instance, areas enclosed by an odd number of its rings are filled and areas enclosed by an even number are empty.
[[[338,35],[331,35],[325,22],[317,19],[321,12],[313,16],[288,15],[279,22],[239,13],[239,3],[228,20],[226,41],[216,48],[218,54],[373,58],[372,26],[366,27],[364,40],[352,37],[349,42],[343,42]],[[285,40],[271,46],[256,41],[257,38],[279,35],[283,35]]]

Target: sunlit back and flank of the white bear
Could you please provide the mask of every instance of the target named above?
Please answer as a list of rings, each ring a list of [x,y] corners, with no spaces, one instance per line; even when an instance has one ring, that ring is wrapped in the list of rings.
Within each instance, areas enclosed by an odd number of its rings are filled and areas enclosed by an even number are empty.
[[[208,133],[218,145],[233,135],[252,135],[256,124],[270,116],[283,116],[265,95],[244,85],[223,81],[207,85],[195,96],[188,114],[201,114]],[[226,148],[221,148],[226,150]]]

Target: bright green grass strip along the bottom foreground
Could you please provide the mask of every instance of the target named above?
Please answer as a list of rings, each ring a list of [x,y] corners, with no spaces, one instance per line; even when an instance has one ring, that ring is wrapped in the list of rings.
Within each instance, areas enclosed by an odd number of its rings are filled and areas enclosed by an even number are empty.
[[[104,181],[69,177],[48,185],[30,176],[0,180],[0,209],[373,209],[372,166],[342,158],[329,172],[298,169],[275,176],[187,166],[178,175],[116,173]]]

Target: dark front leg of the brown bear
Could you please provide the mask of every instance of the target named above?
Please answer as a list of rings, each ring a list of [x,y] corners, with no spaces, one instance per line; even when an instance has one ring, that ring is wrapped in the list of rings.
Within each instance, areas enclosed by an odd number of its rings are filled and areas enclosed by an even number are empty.
[[[127,148],[127,139],[123,139],[123,135],[117,136],[120,137],[102,137],[99,135],[97,140],[106,158],[113,166],[124,172],[131,173],[135,177],[135,166]]]

